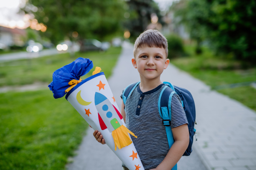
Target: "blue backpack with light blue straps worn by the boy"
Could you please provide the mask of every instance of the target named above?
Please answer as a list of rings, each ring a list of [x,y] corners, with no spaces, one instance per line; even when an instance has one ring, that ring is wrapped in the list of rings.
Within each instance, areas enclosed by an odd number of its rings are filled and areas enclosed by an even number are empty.
[[[131,95],[134,88],[137,87],[137,85],[140,82],[133,83],[131,85],[128,85],[125,90],[123,91],[123,102],[125,104],[126,99]],[[195,125],[195,102],[191,95],[191,93],[184,89],[179,88],[177,86],[173,86],[169,82],[163,82],[166,84],[166,86],[162,89],[159,99],[158,99],[158,110],[161,118],[163,119],[163,125],[166,127],[166,134],[167,139],[169,143],[169,147],[171,148],[172,144],[174,143],[173,135],[172,135],[172,129],[171,129],[171,118],[172,118],[172,111],[171,111],[171,105],[172,105],[172,95],[177,94],[180,96],[181,104],[184,108],[184,111],[186,113],[186,118],[189,122],[189,146],[186,149],[183,156],[189,156],[192,152],[192,143],[193,143],[193,136],[196,134],[196,129],[194,128]],[[197,139],[195,139],[197,140]],[[177,170],[177,164],[172,168],[172,170]]]

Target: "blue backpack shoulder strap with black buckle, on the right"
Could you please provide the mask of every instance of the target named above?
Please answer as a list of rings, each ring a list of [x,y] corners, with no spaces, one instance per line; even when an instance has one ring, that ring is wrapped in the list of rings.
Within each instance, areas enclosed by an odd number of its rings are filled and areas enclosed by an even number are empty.
[[[166,82],[164,83],[167,84]],[[170,88],[170,86],[166,85],[160,92],[159,99],[158,99],[158,111],[161,118],[163,119],[163,125],[165,125],[165,128],[166,128],[166,135],[168,139],[169,148],[171,148],[172,144],[174,143],[172,128],[171,128],[171,118],[172,118],[171,105],[172,105],[172,96],[176,92],[173,89]],[[177,170],[177,164],[175,164],[172,170]]]

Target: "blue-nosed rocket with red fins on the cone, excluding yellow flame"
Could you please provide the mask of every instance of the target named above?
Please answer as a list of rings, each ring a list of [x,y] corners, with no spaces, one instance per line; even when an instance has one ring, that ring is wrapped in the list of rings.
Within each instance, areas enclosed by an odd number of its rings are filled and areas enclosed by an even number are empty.
[[[123,125],[121,121],[122,115],[106,96],[96,92],[95,106],[99,114],[99,124],[102,130],[108,128],[109,132],[112,132]]]

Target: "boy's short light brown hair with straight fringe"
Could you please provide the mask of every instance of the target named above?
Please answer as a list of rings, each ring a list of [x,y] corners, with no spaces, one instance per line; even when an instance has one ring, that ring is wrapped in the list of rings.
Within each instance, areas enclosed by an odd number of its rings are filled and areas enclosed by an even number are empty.
[[[148,29],[140,34],[134,44],[134,58],[136,58],[137,48],[145,46],[164,48],[166,51],[166,58],[168,57],[168,44],[166,37],[157,30]]]

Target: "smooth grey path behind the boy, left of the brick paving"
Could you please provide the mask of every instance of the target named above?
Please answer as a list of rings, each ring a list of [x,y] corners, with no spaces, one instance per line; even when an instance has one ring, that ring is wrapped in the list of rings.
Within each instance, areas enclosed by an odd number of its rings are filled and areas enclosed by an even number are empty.
[[[108,79],[116,102],[121,108],[120,95],[122,90],[132,82],[140,81],[139,74],[131,64],[133,57],[133,46],[129,43],[124,43],[122,54],[113,69],[112,76]],[[166,70],[166,73],[171,73]],[[166,74],[164,79],[169,77]],[[169,80],[168,80],[169,81]],[[72,164],[67,165],[68,170],[122,170],[122,162],[111,151],[107,145],[99,144],[93,137],[93,130],[89,128],[87,135],[84,137],[77,156]],[[203,163],[199,159],[198,154],[193,151],[191,156],[183,156],[178,162],[179,170],[206,170]]]

